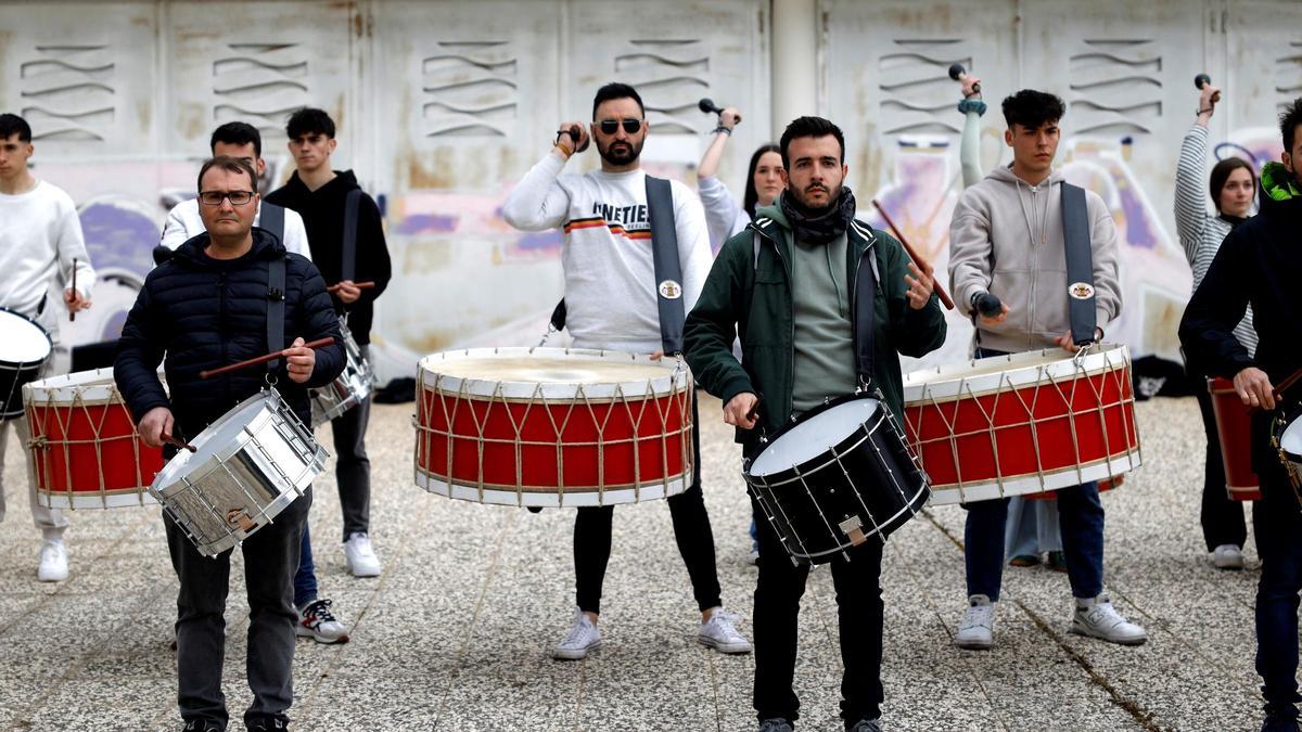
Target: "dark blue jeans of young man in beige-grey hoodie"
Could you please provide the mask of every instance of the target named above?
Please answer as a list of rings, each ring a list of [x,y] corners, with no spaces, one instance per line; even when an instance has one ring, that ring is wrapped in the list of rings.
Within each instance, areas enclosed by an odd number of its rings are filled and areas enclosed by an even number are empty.
[[[967,504],[963,531],[967,564],[967,594],[999,600],[1004,580],[1004,525],[1008,500]],[[1059,526],[1062,529],[1062,555],[1072,594],[1094,598],[1103,591],[1103,504],[1099,485],[1085,483],[1057,491]]]

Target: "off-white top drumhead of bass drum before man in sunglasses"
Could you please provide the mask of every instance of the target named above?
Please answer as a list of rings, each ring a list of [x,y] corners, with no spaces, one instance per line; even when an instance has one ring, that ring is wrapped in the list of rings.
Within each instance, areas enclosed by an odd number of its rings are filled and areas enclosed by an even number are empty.
[[[505,357],[462,358],[439,363],[439,373],[457,379],[527,382],[544,384],[599,384],[659,379],[665,369],[635,361]]]

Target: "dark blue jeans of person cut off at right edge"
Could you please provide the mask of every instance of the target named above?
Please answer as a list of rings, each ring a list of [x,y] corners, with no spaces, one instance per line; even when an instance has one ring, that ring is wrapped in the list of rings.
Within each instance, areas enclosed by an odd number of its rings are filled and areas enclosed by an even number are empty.
[[[1302,701],[1297,684],[1302,513],[1277,458],[1263,456],[1254,468],[1263,495],[1260,511],[1253,511],[1262,555],[1262,580],[1256,586],[1256,672],[1262,676],[1266,709],[1292,716]]]

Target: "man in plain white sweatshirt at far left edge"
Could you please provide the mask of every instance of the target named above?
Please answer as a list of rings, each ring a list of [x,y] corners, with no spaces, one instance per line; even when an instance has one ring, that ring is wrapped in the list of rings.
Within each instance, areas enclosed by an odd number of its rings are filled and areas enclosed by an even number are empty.
[[[34,152],[31,128],[17,115],[0,115],[0,307],[34,319],[51,341],[59,344],[59,307],[49,301],[51,285],[59,284],[68,310],[77,313],[90,307],[90,292],[95,287],[95,270],[86,255],[81,220],[73,199],[48,181],[38,180],[27,169]],[[73,289],[73,267],[77,268],[77,288]],[[4,335],[0,333],[0,349]],[[0,350],[3,358],[3,350]],[[46,361],[40,378],[51,375],[53,359]],[[8,375],[0,371],[0,378]],[[8,387],[5,387],[8,388]],[[26,417],[0,421],[0,464],[4,462],[9,426],[18,432],[18,443],[31,438]],[[68,518],[61,511],[40,505],[36,499],[36,477],[31,456],[27,456],[27,499],[31,517],[40,530],[40,565],[36,577],[42,582],[68,578],[68,548],[64,530]],[[0,520],[5,514],[4,477],[0,474]]]

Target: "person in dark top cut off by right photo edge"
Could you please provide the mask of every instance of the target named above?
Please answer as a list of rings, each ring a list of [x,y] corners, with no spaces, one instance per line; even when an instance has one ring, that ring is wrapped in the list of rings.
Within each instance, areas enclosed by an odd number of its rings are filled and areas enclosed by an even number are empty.
[[[1253,512],[1262,578],[1256,587],[1256,672],[1266,698],[1263,731],[1298,729],[1298,593],[1302,591],[1302,509],[1284,464],[1271,448],[1272,410],[1284,406],[1275,384],[1302,367],[1302,98],[1280,116],[1284,154],[1262,168],[1260,212],[1234,227],[1212,259],[1180,323],[1190,363],[1233,378],[1253,414],[1253,469],[1263,511]],[[1253,306],[1255,356],[1234,337]],[[1284,392],[1288,402],[1297,393]],[[1295,412],[1285,412],[1290,417]]]

